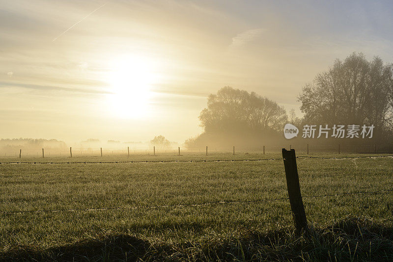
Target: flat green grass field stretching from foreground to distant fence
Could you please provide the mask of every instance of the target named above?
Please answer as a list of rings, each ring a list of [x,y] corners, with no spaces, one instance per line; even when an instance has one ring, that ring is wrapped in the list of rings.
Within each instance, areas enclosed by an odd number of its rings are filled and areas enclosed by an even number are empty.
[[[344,157],[347,155],[311,155]],[[363,156],[363,155],[350,155]],[[126,161],[280,158],[279,154],[0,158]],[[297,159],[303,196],[393,188],[393,159]],[[282,160],[0,165],[0,211],[100,209],[286,198]],[[170,208],[0,214],[0,260],[393,260],[393,192]]]

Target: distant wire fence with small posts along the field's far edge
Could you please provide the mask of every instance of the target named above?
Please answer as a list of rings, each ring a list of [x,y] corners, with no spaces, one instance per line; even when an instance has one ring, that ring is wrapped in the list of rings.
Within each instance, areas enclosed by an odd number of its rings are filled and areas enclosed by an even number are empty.
[[[279,152],[281,148],[296,149],[301,153],[357,153],[357,154],[382,154],[393,153],[393,146],[390,144],[385,145],[262,145],[254,147],[246,146],[206,146],[203,148],[187,148],[187,147],[117,147],[117,148],[3,148],[0,150],[0,158],[22,158],[22,157],[109,157],[109,156],[157,156],[157,155],[209,155],[209,154],[246,154],[257,153],[266,154]]]

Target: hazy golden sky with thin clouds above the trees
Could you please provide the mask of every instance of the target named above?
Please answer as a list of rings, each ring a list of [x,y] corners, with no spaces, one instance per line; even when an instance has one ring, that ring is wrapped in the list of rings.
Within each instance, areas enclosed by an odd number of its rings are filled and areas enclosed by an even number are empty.
[[[336,58],[393,62],[391,1],[0,0],[0,138],[184,142],[224,86],[299,116]]]

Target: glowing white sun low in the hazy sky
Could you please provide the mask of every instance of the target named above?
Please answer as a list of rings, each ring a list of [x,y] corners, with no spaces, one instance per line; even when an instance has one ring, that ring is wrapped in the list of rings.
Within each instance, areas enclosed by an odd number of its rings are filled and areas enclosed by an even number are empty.
[[[154,64],[138,56],[123,56],[111,63],[107,81],[110,94],[107,96],[112,115],[119,118],[143,118],[149,114],[156,81]]]

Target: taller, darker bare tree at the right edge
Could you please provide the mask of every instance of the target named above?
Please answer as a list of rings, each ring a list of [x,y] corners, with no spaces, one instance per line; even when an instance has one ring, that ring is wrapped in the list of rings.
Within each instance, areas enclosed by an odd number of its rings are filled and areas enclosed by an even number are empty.
[[[381,136],[392,123],[392,82],[392,65],[352,53],[306,84],[298,101],[305,122],[374,125]]]

